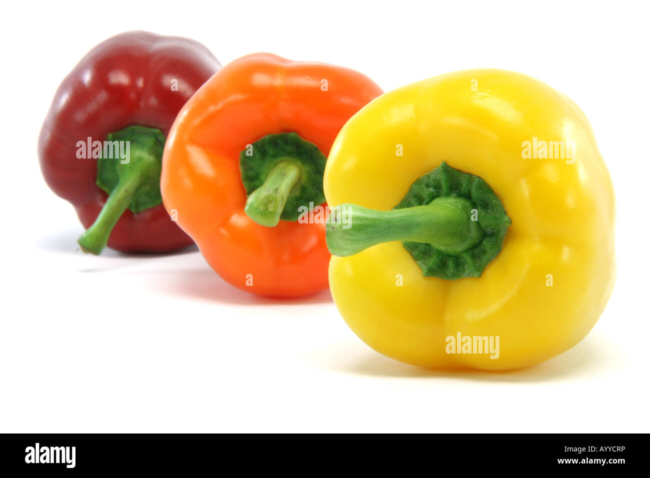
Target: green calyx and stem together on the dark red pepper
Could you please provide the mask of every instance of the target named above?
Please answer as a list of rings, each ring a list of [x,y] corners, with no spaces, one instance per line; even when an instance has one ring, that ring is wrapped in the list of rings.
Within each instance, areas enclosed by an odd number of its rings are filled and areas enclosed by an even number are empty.
[[[159,129],[129,126],[110,133],[97,164],[97,185],[109,194],[95,222],[79,237],[83,252],[99,254],[126,209],[139,213],[162,203],[165,138]]]

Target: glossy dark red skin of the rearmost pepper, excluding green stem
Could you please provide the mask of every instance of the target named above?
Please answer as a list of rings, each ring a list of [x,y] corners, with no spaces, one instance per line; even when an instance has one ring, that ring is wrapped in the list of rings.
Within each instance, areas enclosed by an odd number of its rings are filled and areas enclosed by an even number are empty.
[[[104,141],[135,125],[167,135],[181,107],[219,68],[194,40],[134,31],[94,47],[62,81],[40,132],[38,156],[47,185],[73,204],[85,228],[107,193],[96,184],[97,159],[79,159],[77,142]],[[124,211],[108,241],[122,252],[170,252],[190,244],[162,204]]]

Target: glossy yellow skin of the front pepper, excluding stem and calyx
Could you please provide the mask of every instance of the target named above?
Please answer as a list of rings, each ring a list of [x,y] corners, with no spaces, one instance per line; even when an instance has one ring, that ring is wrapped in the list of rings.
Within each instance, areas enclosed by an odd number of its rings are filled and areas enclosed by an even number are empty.
[[[534,139],[575,142],[575,155],[523,157]],[[423,276],[400,241],[333,256],[330,286],[346,323],[376,351],[424,367],[515,369],[576,345],[615,277],[614,190],[582,111],[541,81],[500,70],[404,86],[343,127],[325,195],[331,207],[388,211],[443,161],[499,196],[512,220],[502,250],[480,277],[458,280]],[[448,354],[458,332],[499,336],[499,358]]]

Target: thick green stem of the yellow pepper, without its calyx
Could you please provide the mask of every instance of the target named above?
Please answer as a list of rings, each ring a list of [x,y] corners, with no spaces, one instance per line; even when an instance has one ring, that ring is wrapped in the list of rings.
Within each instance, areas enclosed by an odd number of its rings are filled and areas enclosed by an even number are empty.
[[[439,197],[426,206],[391,211],[343,204],[328,219],[327,245],[335,256],[352,256],[380,243],[413,241],[458,256],[484,235],[472,220],[473,209],[470,200],[460,197]]]

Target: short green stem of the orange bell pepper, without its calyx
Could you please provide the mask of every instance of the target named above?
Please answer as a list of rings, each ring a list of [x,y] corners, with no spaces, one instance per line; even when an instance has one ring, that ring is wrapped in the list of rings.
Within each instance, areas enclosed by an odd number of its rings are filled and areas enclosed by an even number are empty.
[[[257,224],[269,228],[276,226],[298,179],[300,166],[294,161],[280,161],[268,174],[264,184],[248,195],[244,212]]]

